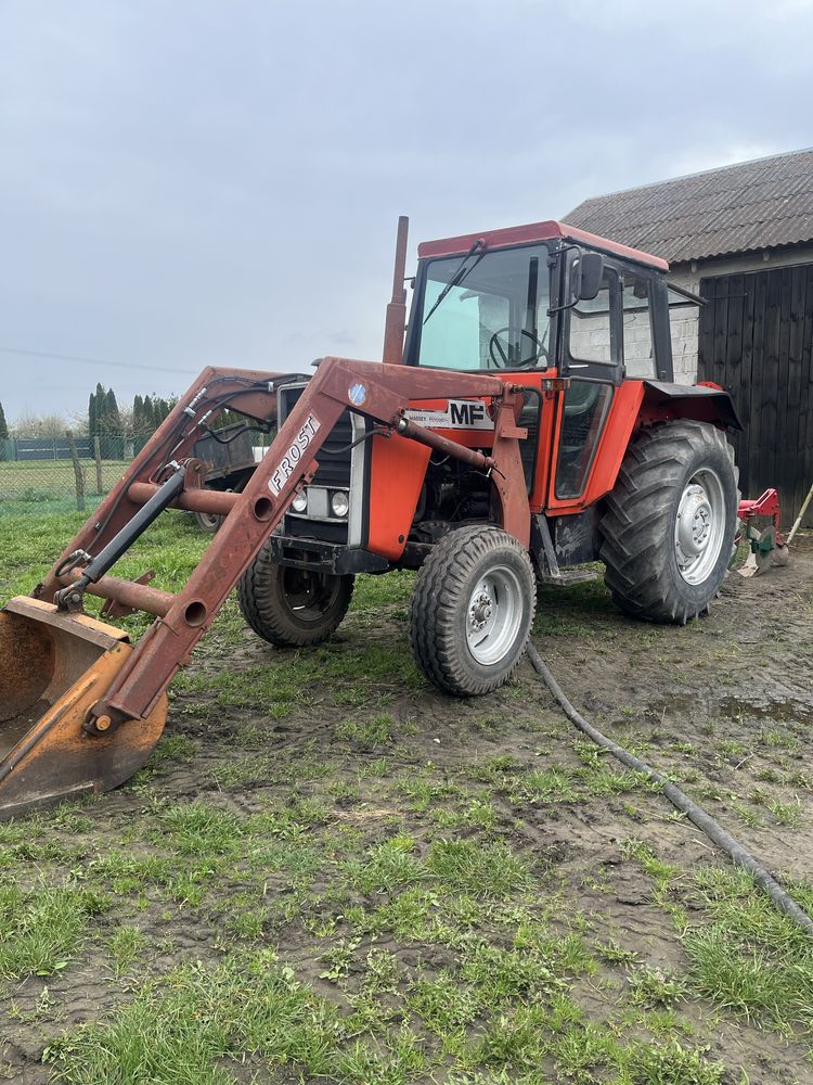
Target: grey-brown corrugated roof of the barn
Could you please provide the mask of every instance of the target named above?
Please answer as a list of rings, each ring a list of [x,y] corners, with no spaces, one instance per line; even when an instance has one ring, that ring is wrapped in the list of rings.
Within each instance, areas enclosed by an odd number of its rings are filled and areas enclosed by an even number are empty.
[[[565,220],[670,264],[813,241],[813,149],[594,196]]]

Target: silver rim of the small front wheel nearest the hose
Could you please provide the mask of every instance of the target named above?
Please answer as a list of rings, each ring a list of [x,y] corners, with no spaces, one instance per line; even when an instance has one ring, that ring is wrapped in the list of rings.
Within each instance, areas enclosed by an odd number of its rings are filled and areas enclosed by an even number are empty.
[[[511,652],[522,624],[522,589],[516,573],[498,565],[480,576],[466,605],[466,643],[481,666]]]

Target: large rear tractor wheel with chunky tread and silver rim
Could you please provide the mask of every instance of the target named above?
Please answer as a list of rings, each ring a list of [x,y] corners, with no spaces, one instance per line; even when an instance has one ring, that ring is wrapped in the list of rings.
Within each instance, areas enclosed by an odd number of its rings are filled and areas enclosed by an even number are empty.
[[[683,625],[706,612],[728,565],[737,502],[721,430],[688,419],[642,430],[599,525],[605,582],[621,610]]]

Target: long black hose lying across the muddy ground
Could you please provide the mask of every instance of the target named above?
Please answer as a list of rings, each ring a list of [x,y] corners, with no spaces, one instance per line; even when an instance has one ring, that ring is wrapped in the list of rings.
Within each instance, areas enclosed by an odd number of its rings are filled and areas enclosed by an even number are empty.
[[[762,886],[762,889],[767,893],[771,899],[774,902],[777,908],[785,912],[795,920],[802,930],[806,931],[808,934],[813,935],[813,920],[803,911],[796,901],[790,897],[785,890],[779,885],[779,883],[771,877],[771,875],[765,870],[765,868],[754,859],[750,852],[746,851],[743,845],[727,833],[725,829],[711,815],[707,814],[701,806],[698,806],[696,802],[688,797],[685,792],[668,780],[664,776],[661,776],[657,769],[651,768],[645,762],[641,761],[634,754],[631,754],[623,746],[620,746],[612,739],[608,739],[606,735],[603,735],[596,727],[589,724],[584,716],[580,715],[573,707],[573,705],[568,701],[565,694],[562,692],[562,688],[558,682],[547,669],[542,659],[533,647],[533,644],[528,646],[528,659],[533,666],[533,669],[542,676],[542,680],[553,693],[554,698],[558,702],[565,715],[570,719],[580,731],[583,731],[588,738],[592,739],[596,745],[602,746],[612,754],[622,765],[627,765],[628,768],[634,769],[636,773],[641,773],[647,776],[650,780],[654,780],[661,789],[663,794],[670,801],[670,803],[676,807],[676,809],[682,810],[689,821],[693,821],[698,829],[706,833],[709,840],[713,841],[718,847],[722,847],[735,863],[739,866],[745,867],[746,870],[753,875],[754,881]]]

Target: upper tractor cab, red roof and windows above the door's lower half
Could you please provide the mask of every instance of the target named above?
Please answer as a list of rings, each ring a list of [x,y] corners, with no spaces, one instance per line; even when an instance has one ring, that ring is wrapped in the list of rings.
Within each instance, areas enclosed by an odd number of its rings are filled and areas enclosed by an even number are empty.
[[[408,365],[672,379],[657,257],[558,222],[429,242],[418,257]]]

